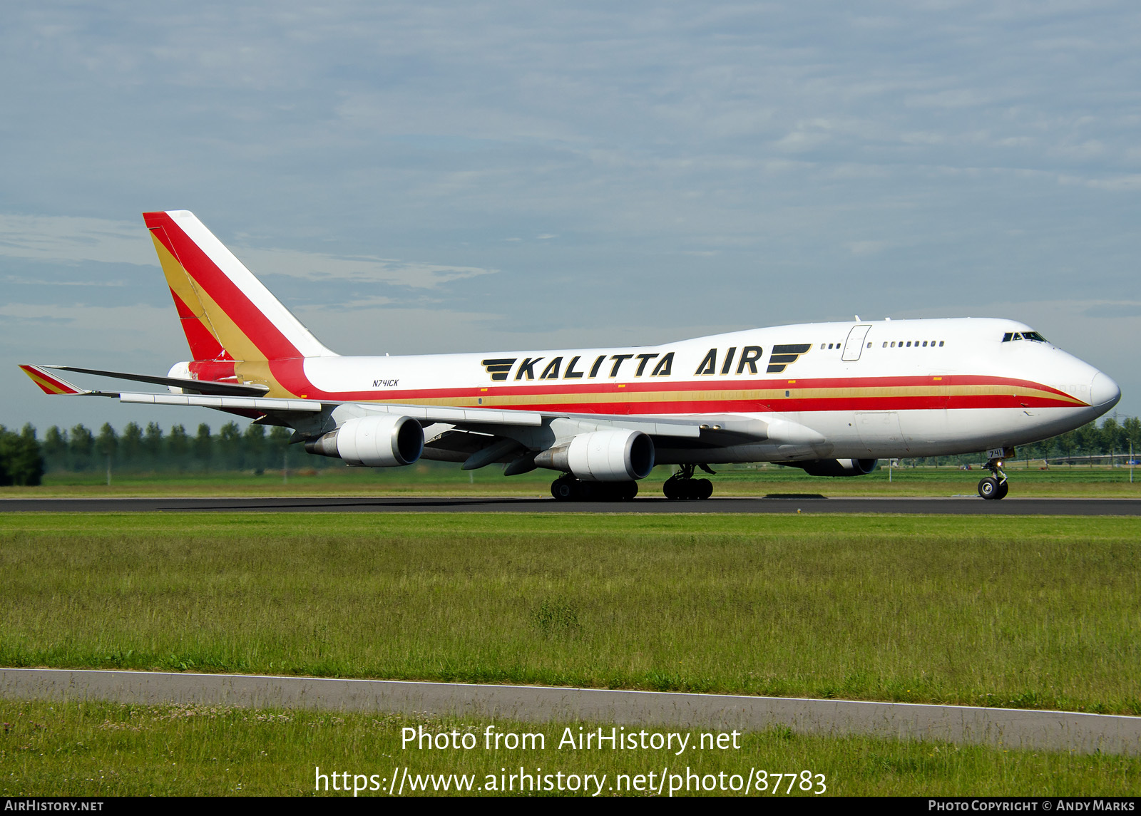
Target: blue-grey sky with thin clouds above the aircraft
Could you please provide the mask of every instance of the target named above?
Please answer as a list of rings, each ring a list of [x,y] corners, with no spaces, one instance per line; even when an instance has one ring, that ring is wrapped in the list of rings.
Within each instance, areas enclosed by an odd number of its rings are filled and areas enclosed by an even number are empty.
[[[228,421],[15,368],[187,359],[181,209],[340,353],[1008,317],[1141,413],[1136,3],[43,0],[0,72],[8,427]]]

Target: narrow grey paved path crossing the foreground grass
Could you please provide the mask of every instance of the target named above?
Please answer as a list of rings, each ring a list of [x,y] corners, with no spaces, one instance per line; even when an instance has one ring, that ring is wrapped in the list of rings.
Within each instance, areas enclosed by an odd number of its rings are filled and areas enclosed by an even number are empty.
[[[1141,717],[602,688],[160,671],[0,669],[0,696],[203,703],[804,734],[869,734],[1079,753],[1141,753]]]

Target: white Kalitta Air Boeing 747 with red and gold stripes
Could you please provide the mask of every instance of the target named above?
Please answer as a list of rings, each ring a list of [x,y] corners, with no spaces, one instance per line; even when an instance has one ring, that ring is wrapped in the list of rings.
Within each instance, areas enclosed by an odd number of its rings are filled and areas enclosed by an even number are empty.
[[[22,366],[49,394],[201,406],[293,430],[350,465],[418,459],[561,472],[557,499],[630,499],[675,465],[671,499],[709,498],[695,470],[776,462],[855,476],[879,458],[987,450],[979,495],[1009,489],[1014,446],[1117,403],[1107,374],[1000,319],[856,320],[733,332],[654,346],[413,357],[326,349],[185,210],[144,214],[192,360],[167,376]],[[91,391],[54,370],[165,385]]]

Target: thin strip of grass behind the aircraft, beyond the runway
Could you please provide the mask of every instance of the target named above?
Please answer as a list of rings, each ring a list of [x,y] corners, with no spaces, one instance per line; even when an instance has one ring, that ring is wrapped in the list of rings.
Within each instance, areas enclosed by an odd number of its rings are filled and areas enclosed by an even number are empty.
[[[1041,462],[1011,463],[1012,496],[1141,497],[1141,468],[1130,482],[1125,467],[1054,466]],[[825,496],[956,496],[976,495],[978,470],[953,467],[885,467],[849,479],[809,476],[792,467],[718,466],[714,496],[764,496],[808,492]],[[661,496],[672,468],[658,467],[641,482],[642,496]],[[459,465],[422,462],[410,467],[297,470],[235,473],[49,473],[35,488],[0,488],[0,497],[17,496],[549,496],[551,471],[505,478],[497,466],[461,471]]]

